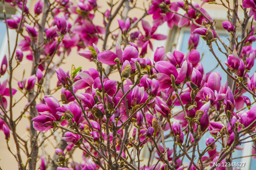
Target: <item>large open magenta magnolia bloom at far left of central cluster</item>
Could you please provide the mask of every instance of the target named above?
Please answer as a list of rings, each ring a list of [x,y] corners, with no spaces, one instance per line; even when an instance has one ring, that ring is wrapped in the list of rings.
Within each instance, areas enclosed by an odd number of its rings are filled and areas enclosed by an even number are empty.
[[[38,111],[38,116],[36,116],[33,121],[33,127],[37,131],[48,131],[53,128],[53,121],[60,119],[57,115],[57,108],[60,107],[60,103],[52,95],[44,96],[46,104],[37,104],[35,106]],[[62,122],[65,125],[65,122]]]

